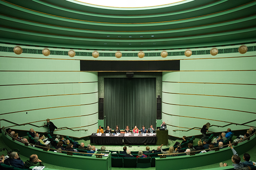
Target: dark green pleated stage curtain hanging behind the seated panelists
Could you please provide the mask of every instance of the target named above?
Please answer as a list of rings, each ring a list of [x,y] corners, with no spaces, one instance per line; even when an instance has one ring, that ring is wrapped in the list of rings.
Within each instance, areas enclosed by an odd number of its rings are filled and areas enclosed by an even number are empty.
[[[156,127],[156,78],[104,78],[104,115],[112,129]]]

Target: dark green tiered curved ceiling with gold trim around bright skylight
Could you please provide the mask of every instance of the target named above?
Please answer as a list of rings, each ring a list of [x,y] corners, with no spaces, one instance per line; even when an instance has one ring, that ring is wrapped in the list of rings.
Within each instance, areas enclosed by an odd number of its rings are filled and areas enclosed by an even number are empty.
[[[256,1],[194,0],[97,8],[66,0],[0,0],[2,42],[86,49],[173,49],[255,41]]]

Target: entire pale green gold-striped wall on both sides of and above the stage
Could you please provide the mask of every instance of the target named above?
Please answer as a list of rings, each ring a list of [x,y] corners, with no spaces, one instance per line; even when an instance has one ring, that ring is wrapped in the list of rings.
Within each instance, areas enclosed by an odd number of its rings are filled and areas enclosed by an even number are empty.
[[[57,48],[48,48],[51,54],[44,56],[45,47],[25,45],[20,45],[23,53],[16,55],[15,46],[0,44],[1,126],[45,132],[40,126],[49,118],[63,127],[56,134],[86,137],[95,133],[98,97],[104,94],[104,86],[98,84],[97,72],[80,72],[80,60],[180,60],[180,71],[154,75],[162,79],[162,90],[157,85],[156,91],[162,91],[162,121],[168,125],[169,135],[199,135],[199,128],[207,122],[214,125],[212,132],[255,126],[256,43],[246,44],[245,54],[238,53],[240,45],[232,45],[216,47],[216,56],[210,55],[212,47],[206,47],[191,49],[190,57],[184,55],[186,49],[166,50],[166,58],[160,57],[161,51],[144,51],[142,59],[136,56],[139,51],[121,51],[126,57],[120,59],[112,55],[116,51],[98,51],[100,57],[95,59],[92,50],[74,49],[76,56],[69,57],[70,49]],[[99,82],[104,76],[99,76]],[[30,124],[21,125],[24,123]]]

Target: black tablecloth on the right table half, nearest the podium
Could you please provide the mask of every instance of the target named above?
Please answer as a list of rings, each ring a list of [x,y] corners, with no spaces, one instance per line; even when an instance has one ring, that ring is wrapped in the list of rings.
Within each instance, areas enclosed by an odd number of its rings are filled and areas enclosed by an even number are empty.
[[[142,133],[139,133],[138,136],[134,136],[134,134],[131,134],[129,136],[124,136],[124,143],[127,144],[156,144],[157,138],[156,135],[153,136],[142,136]]]

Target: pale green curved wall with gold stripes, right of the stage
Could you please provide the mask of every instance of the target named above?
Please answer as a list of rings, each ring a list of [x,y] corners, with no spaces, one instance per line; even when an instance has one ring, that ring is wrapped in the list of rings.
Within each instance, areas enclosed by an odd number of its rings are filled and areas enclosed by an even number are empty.
[[[169,135],[199,135],[207,122],[211,132],[255,127],[255,54],[191,56],[180,61],[180,72],[163,72],[162,119]]]

